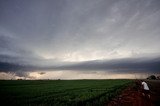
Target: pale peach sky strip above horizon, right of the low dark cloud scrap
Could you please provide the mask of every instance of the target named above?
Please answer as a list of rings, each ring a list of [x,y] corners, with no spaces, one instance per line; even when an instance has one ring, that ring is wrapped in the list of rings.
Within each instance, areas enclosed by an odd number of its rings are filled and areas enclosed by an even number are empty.
[[[139,79],[146,78],[146,73],[112,73],[107,71],[46,71],[41,75],[30,72],[30,77],[35,79]]]

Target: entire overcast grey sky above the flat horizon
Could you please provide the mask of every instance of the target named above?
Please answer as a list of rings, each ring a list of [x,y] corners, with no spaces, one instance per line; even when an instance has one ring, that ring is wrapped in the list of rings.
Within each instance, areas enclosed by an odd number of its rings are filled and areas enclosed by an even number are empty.
[[[0,0],[0,78],[160,73],[159,34],[160,0]]]

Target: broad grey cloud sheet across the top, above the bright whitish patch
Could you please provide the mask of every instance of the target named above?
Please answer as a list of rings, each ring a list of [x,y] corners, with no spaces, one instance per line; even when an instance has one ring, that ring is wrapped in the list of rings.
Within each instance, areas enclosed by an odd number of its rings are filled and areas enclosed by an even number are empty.
[[[153,44],[159,44],[159,4],[158,0],[17,0],[2,2],[1,25],[16,33],[22,48],[33,52],[63,55],[129,47],[136,51],[144,45],[157,50]]]

